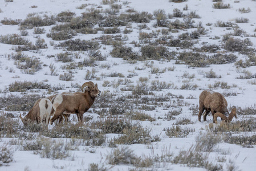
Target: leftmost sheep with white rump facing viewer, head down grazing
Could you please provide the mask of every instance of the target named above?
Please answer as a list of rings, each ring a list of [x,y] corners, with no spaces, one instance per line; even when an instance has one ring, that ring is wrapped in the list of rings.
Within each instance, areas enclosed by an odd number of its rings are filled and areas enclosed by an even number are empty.
[[[38,123],[38,124],[48,124],[50,120],[52,103],[49,99],[42,98],[38,99],[29,113],[22,118],[21,114],[19,118],[22,120],[22,123],[26,126],[27,124]]]

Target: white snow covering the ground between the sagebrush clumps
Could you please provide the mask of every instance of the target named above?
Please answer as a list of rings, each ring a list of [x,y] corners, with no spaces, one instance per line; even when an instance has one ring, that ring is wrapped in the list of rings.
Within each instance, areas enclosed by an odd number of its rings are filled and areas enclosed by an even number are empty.
[[[110,1],[109,1],[110,2]],[[246,32],[246,34],[242,34],[240,36],[234,36],[235,38],[239,38],[244,40],[249,38],[249,40],[253,43],[251,48],[255,48],[256,46],[256,2],[251,0],[240,0],[231,1],[224,0],[224,4],[230,4],[230,8],[228,9],[214,9],[213,3],[210,0],[200,1],[200,0],[188,0],[182,3],[174,3],[169,2],[168,0],[128,0],[128,1],[117,1],[115,4],[121,5],[121,9],[117,15],[121,13],[125,13],[127,9],[134,9],[135,11],[142,12],[147,11],[148,13],[153,14],[155,10],[162,9],[165,11],[166,15],[173,14],[174,9],[180,9],[183,14],[190,13],[191,11],[195,11],[201,18],[193,18],[194,26],[202,23],[202,26],[207,30],[205,35],[200,35],[199,39],[193,45],[193,47],[202,47],[204,44],[217,44],[221,47],[222,38],[225,34],[234,31],[233,27],[217,27],[214,24],[217,21],[223,22],[231,22],[239,26],[239,29]],[[79,6],[87,4],[85,9],[78,9]],[[182,10],[185,5],[188,5],[188,10]],[[100,6],[100,7],[99,7]],[[94,7],[95,9],[109,9],[111,5],[104,5],[101,0],[47,0],[47,1],[27,1],[27,0],[14,0],[14,2],[6,2],[1,0],[0,2],[0,20],[5,18],[7,19],[26,19],[28,14],[36,13],[40,16],[44,14],[57,15],[63,11],[71,11],[75,13],[76,17],[79,17],[83,13],[86,13],[86,9],[91,9]],[[250,9],[249,13],[240,13],[239,9],[245,8],[247,10]],[[247,23],[235,23],[235,19],[237,18],[247,18],[249,21]],[[169,21],[174,22],[176,19],[182,18],[168,18]],[[151,20],[149,23],[145,23],[147,28],[139,29],[141,23],[131,23],[131,28],[133,31],[128,34],[123,34],[123,30],[126,28],[125,26],[120,26],[120,33],[113,35],[122,35],[124,38],[127,36],[127,40],[124,41],[125,46],[132,47],[132,50],[140,53],[140,47],[135,47],[132,44],[133,41],[140,42],[139,34],[140,32],[152,33],[153,31],[157,32],[160,30],[160,34],[157,35],[157,38],[161,37],[162,28],[167,27],[153,27],[156,19]],[[57,23],[56,23],[57,24]],[[99,48],[101,54],[106,57],[105,60],[96,61],[96,66],[86,66],[82,68],[76,67],[73,70],[70,70],[74,75],[72,81],[64,81],[59,80],[59,76],[50,75],[51,64],[54,64],[56,67],[56,74],[61,75],[64,72],[68,72],[68,70],[63,70],[63,65],[67,63],[56,62],[56,58],[48,58],[50,55],[56,55],[60,52],[66,52],[62,49],[58,49],[52,46],[52,42],[54,44],[59,44],[59,42],[64,42],[64,40],[52,40],[52,38],[47,37],[47,33],[50,33],[51,28],[55,25],[51,26],[42,26],[40,28],[45,29],[44,34],[39,34],[41,39],[44,39],[47,43],[48,48],[42,48],[38,51],[23,51],[23,54],[28,56],[34,56],[35,58],[40,59],[42,62],[42,69],[36,71],[34,75],[23,74],[22,71],[17,68],[17,65],[14,65],[14,59],[9,59],[12,53],[15,54],[15,48],[17,45],[0,43],[0,92],[1,96],[6,96],[9,94],[18,94],[22,95],[21,92],[9,92],[6,91],[11,83],[15,81],[31,81],[31,82],[44,82],[50,84],[51,86],[61,85],[64,89],[60,89],[58,92],[61,93],[63,91],[76,91],[76,88],[71,88],[72,84],[82,85],[87,80],[84,79],[84,76],[88,71],[92,71],[92,68],[96,70],[96,77],[90,81],[97,83],[101,92],[108,93],[116,93],[118,96],[127,96],[131,94],[131,91],[121,91],[121,88],[125,88],[127,86],[113,86],[111,83],[116,83],[118,79],[129,79],[131,80],[131,84],[136,86],[139,83],[139,78],[148,78],[147,84],[150,85],[153,80],[159,80],[159,82],[166,82],[174,85],[173,87],[167,89],[161,89],[161,91],[154,91],[155,95],[165,96],[169,93],[177,96],[183,96],[181,99],[182,105],[170,108],[157,107],[152,111],[145,110],[144,112],[151,115],[151,117],[155,118],[156,121],[140,121],[141,125],[144,128],[151,129],[151,135],[160,135],[161,141],[153,142],[151,144],[131,144],[131,145],[118,145],[117,148],[121,148],[122,146],[128,146],[136,156],[141,156],[141,158],[145,156],[156,156],[157,154],[161,156],[164,153],[173,153],[173,156],[177,156],[181,150],[187,151],[193,145],[196,145],[196,137],[198,135],[206,133],[206,127],[213,122],[212,116],[208,116],[207,121],[198,121],[197,115],[192,115],[192,111],[189,109],[190,107],[196,107],[198,105],[198,99],[200,93],[204,89],[209,89],[209,85],[214,85],[217,82],[227,83],[229,88],[221,88],[216,87],[213,90],[216,92],[224,93],[228,107],[231,108],[233,106],[237,108],[254,108],[255,109],[255,75],[256,75],[256,67],[250,66],[246,68],[237,68],[235,66],[235,62],[226,63],[226,64],[210,64],[209,67],[189,67],[188,64],[177,64],[176,59],[170,60],[148,60],[145,61],[137,61],[136,63],[128,62],[127,60],[123,60],[121,58],[112,58],[109,52],[112,51],[113,47],[111,45],[101,44]],[[99,27],[99,25],[95,25],[94,28]],[[21,30],[18,29],[19,25],[4,25],[0,23],[0,35],[7,34],[21,34]],[[107,28],[107,27],[105,27]],[[178,32],[168,32],[168,36],[173,36],[173,39],[177,39],[178,35],[192,31],[196,31],[197,28],[184,28],[182,30],[178,30]],[[27,36],[22,36],[30,40],[32,43],[36,42],[38,39],[38,35],[34,34],[34,28],[26,30],[28,32]],[[97,34],[80,34],[74,36],[73,39],[81,39],[81,40],[95,40],[95,38],[99,38],[100,36],[105,35],[103,31],[97,31]],[[213,39],[215,36],[220,37],[220,39]],[[152,38],[153,41],[155,38]],[[143,44],[141,44],[143,45]],[[182,49],[179,47],[168,47],[169,51],[174,52],[183,52],[186,49]],[[191,50],[192,48],[190,48]],[[74,59],[73,62],[82,62],[83,59],[87,59],[87,52],[76,51],[80,58]],[[227,53],[227,54],[235,54],[238,56],[236,61],[248,59],[247,54],[241,54],[239,52],[227,52],[224,48],[218,50],[216,53]],[[206,55],[212,55],[208,52],[205,52]],[[254,51],[255,55],[255,51]],[[103,66],[109,67],[103,67]],[[159,68],[159,70],[165,70],[163,72],[158,72],[157,74],[152,74],[152,67]],[[168,71],[168,68],[174,68],[174,71]],[[10,72],[11,70],[11,72]],[[217,75],[217,78],[206,78],[205,73],[213,71]],[[243,75],[245,72],[251,73],[250,79],[237,79],[239,76]],[[117,78],[111,77],[111,74],[123,74],[124,77]],[[129,75],[133,74],[132,78],[128,78]],[[194,75],[192,78],[185,75]],[[46,82],[47,80],[47,82]],[[103,84],[106,81],[110,82],[109,86],[103,87]],[[191,89],[182,89],[185,83],[189,83],[190,85],[196,85],[196,88]],[[211,86],[210,86],[211,87]],[[27,92],[28,94],[37,93],[39,95],[47,96],[47,90],[39,90],[35,92]],[[232,95],[233,94],[233,95]],[[113,97],[115,98],[115,97]],[[172,100],[171,100],[172,101]],[[170,103],[171,103],[170,101]],[[177,99],[173,99],[176,101]],[[97,103],[97,101],[95,102]],[[180,115],[175,116],[175,120],[167,120],[165,119],[166,115],[169,111],[173,109],[182,108],[182,112]],[[4,109],[4,108],[3,108]],[[5,113],[6,111],[2,112]],[[10,111],[7,111],[10,112]],[[26,111],[27,112],[27,111]],[[18,117],[19,111],[13,111],[14,115]],[[121,114],[121,113],[120,113]],[[88,114],[84,114],[86,116]],[[97,114],[92,110],[90,111],[90,115],[94,116],[93,120],[97,120]],[[74,117],[76,117],[74,115]],[[165,135],[164,129],[170,128],[176,123],[177,120],[183,119],[184,117],[189,118],[193,123],[188,125],[181,125],[182,128],[191,128],[195,129],[194,132],[190,132],[187,137],[182,138],[169,138]],[[255,121],[255,113],[251,113],[251,115],[238,115],[238,119],[233,119],[232,122],[246,120],[246,118],[251,117],[251,120]],[[219,120],[220,122],[220,120]],[[255,122],[254,122],[255,123]],[[22,124],[22,123],[21,123]],[[49,126],[51,127],[51,126]],[[238,132],[237,135],[255,135],[255,132]],[[115,134],[107,134],[107,140],[111,140],[113,137],[117,137]],[[2,137],[0,139],[0,144],[8,144],[9,141],[14,140],[11,138]],[[66,141],[66,140],[64,140]],[[9,143],[10,144],[10,143]],[[107,170],[207,170],[205,168],[198,167],[190,167],[186,164],[173,164],[172,162],[155,162],[149,168],[136,168],[132,164],[119,164],[119,165],[110,165],[108,164],[107,156],[111,154],[114,148],[109,147],[108,145],[102,146],[80,146],[80,150],[71,150],[70,158],[66,158],[63,160],[52,160],[50,158],[41,158],[39,154],[34,154],[30,150],[20,150],[17,145],[9,145],[10,148],[14,151],[13,161],[8,164],[8,166],[1,166],[0,170],[88,170],[90,168],[90,164],[95,163],[99,165],[103,165]],[[236,144],[228,144],[218,143],[218,145],[214,148],[212,152],[205,153],[208,155],[208,161],[216,164],[222,165],[223,170],[232,170],[228,166],[232,165],[234,162],[233,170],[255,170],[256,168],[256,150],[255,145],[252,145],[254,148],[243,148],[241,145]],[[251,146],[251,147],[252,147]],[[217,158],[222,158],[223,161],[217,160]],[[224,160],[225,158],[225,160]]]

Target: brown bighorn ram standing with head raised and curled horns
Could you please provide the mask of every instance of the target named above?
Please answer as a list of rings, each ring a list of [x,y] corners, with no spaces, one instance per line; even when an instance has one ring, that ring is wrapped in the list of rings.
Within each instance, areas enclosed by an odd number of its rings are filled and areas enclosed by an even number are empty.
[[[52,124],[59,116],[64,114],[74,114],[78,116],[78,121],[83,121],[83,114],[94,104],[95,98],[100,96],[100,91],[97,88],[97,84],[92,82],[86,82],[82,85],[82,91],[84,87],[87,87],[84,92],[75,93],[61,93],[58,94],[52,107],[54,108],[54,116],[50,120]]]

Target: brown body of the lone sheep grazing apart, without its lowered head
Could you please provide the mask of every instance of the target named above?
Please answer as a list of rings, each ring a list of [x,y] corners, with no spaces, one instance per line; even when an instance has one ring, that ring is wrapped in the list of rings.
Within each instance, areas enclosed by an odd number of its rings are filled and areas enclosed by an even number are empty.
[[[204,110],[206,110],[204,112]],[[225,97],[218,92],[204,90],[199,96],[199,113],[198,120],[201,121],[202,113],[204,112],[204,121],[206,121],[206,116],[212,112],[213,123],[214,123],[214,113],[220,112],[224,115],[228,115],[227,110],[227,100]]]

